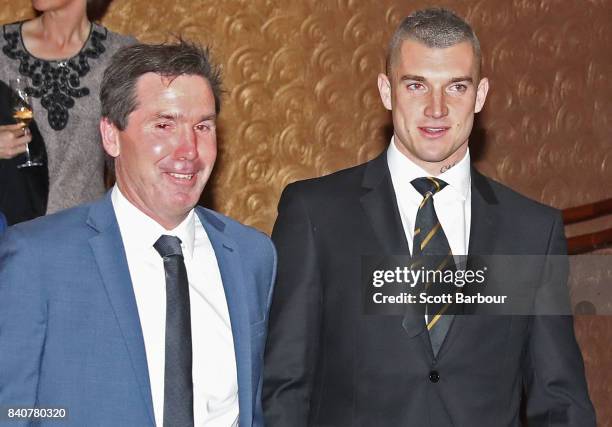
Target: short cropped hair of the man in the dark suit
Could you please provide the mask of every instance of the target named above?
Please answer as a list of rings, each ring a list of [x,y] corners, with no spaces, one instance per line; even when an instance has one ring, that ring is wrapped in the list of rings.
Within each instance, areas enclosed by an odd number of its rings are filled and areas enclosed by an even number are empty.
[[[404,40],[415,40],[430,48],[446,48],[468,41],[474,49],[480,74],[480,42],[470,25],[448,9],[418,10],[404,18],[393,33],[387,52],[387,74],[399,54]]]

